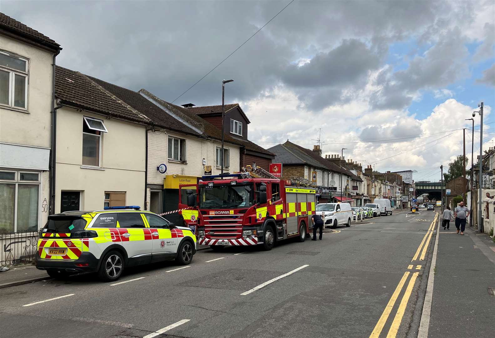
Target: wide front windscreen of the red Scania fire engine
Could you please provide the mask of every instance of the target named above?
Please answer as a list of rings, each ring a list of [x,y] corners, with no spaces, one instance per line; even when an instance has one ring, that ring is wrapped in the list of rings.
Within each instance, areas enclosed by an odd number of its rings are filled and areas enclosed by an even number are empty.
[[[254,202],[252,184],[201,187],[199,196],[199,207],[204,209],[248,208]]]

